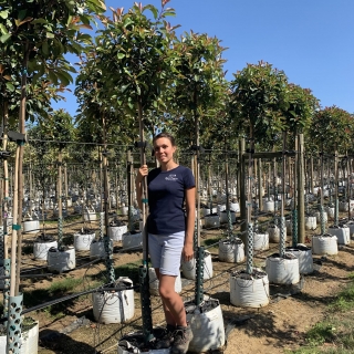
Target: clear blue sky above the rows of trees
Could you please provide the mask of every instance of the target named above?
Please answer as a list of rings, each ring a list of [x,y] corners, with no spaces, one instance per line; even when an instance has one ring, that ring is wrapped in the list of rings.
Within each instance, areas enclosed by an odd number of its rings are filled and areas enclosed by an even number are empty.
[[[125,11],[133,3],[106,1],[107,9]],[[160,0],[142,3],[160,7]],[[167,6],[176,10],[170,23],[180,24],[179,33],[208,33],[228,48],[228,80],[247,63],[263,60],[283,70],[289,82],[311,88],[323,107],[354,113],[353,0],[171,0]],[[65,96],[53,107],[74,116],[76,100]]]

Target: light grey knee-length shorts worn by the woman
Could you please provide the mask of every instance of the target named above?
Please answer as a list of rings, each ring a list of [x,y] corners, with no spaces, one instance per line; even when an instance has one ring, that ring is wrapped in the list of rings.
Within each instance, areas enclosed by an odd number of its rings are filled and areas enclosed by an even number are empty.
[[[148,233],[148,252],[152,264],[160,274],[179,274],[181,250],[185,244],[185,231],[171,235]]]

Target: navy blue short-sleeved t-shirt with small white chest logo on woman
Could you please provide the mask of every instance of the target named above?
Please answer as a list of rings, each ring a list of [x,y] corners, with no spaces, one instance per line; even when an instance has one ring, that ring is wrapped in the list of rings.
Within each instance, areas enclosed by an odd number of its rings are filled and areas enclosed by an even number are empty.
[[[155,168],[148,173],[148,232],[170,235],[186,229],[185,189],[195,185],[191,170],[184,166],[166,171]]]

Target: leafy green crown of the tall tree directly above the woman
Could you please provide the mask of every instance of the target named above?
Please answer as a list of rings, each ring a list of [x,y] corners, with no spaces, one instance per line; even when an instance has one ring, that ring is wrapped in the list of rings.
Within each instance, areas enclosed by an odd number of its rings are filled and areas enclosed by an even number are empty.
[[[144,113],[164,106],[160,93],[168,84],[173,65],[169,46],[175,33],[166,18],[175,11],[135,3],[128,12],[111,9],[96,38],[96,61],[110,93],[110,108],[125,113],[135,123],[137,106]],[[149,11],[152,18],[146,12]],[[114,73],[114,74],[112,74]],[[144,115],[147,119],[148,115]],[[133,123],[133,124],[134,124]]]

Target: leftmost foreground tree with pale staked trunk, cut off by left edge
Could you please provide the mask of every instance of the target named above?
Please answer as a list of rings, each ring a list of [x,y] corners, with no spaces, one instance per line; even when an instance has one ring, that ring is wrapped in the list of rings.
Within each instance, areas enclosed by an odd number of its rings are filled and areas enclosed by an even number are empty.
[[[28,77],[37,82],[43,75],[48,75],[55,85],[66,85],[72,81],[70,71],[74,71],[64,59],[67,52],[79,54],[82,51],[82,43],[90,39],[83,34],[81,27],[88,27],[94,13],[104,11],[104,3],[101,0],[87,0],[74,2],[71,0],[54,0],[49,6],[48,1],[13,1],[0,0],[0,42],[2,53],[7,59],[7,65],[21,67],[21,80],[12,81],[10,66],[7,90],[11,84],[18,86],[21,94],[19,100],[19,127],[24,135],[24,122],[27,117],[27,86]],[[12,66],[13,65],[13,66]],[[9,95],[10,96],[10,95]],[[23,163],[23,139],[18,140],[13,225],[11,246],[11,282],[10,296],[19,293],[20,263],[21,263],[21,232],[18,223],[18,209],[22,210],[22,163]],[[21,214],[20,214],[21,217]],[[19,236],[19,240],[18,240]],[[18,254],[15,249],[18,243]],[[18,263],[17,263],[18,261]],[[17,277],[14,277],[14,274]],[[9,321],[10,323],[10,321]],[[10,325],[11,327],[11,325]],[[17,342],[17,341],[15,341]],[[17,345],[13,343],[10,345]]]

